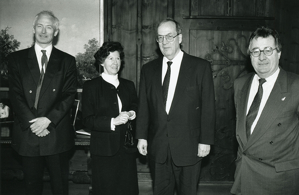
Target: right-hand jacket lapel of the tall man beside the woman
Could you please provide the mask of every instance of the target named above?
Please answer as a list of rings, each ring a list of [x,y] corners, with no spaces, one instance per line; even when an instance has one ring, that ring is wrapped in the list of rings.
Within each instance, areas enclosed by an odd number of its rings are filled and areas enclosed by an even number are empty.
[[[181,97],[182,93],[184,92],[184,89],[186,88],[188,80],[190,79],[189,76],[192,75],[191,64],[193,63],[190,62],[190,56],[184,52],[183,59],[179,68],[177,86],[170,106],[169,114],[174,109],[174,107],[179,104],[179,98]]]

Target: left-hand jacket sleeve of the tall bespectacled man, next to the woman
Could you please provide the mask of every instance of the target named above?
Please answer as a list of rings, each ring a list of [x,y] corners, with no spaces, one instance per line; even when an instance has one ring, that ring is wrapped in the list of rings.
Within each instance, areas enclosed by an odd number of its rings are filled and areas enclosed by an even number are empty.
[[[138,111],[136,116],[136,138],[137,139],[147,139],[148,128],[149,128],[149,116],[150,111],[148,107],[148,102],[146,98],[146,83],[144,75],[144,66],[141,70],[140,75],[140,85],[139,85],[139,103]]]

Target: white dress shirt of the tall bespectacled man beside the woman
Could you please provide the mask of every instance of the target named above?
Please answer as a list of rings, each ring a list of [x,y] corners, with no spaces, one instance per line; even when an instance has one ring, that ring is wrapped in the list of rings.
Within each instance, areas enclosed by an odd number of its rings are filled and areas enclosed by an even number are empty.
[[[175,95],[175,90],[176,90],[176,86],[177,86],[177,82],[178,82],[178,77],[179,77],[179,68],[180,68],[180,64],[181,64],[181,60],[183,59],[183,55],[184,53],[179,50],[179,54],[172,59],[172,64],[170,66],[170,81],[169,81],[169,88],[168,88],[168,95],[167,95],[167,100],[166,100],[166,112],[167,114],[169,113],[170,110],[170,106],[172,103],[172,99]],[[162,64],[162,85],[163,85],[163,80],[164,77],[166,75],[167,72],[167,62],[170,61],[169,59],[167,59],[166,57],[163,58],[163,64]]]

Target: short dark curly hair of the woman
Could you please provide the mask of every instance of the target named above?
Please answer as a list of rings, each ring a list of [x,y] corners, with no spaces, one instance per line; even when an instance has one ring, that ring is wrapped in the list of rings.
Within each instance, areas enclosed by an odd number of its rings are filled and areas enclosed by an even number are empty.
[[[115,51],[118,51],[120,53],[120,61],[122,64],[124,59],[124,53],[123,47],[121,46],[120,42],[106,41],[102,44],[100,49],[94,55],[94,58],[96,59],[95,66],[98,72],[103,72],[103,68],[100,64],[102,64],[105,61],[105,59],[110,55],[110,52]]]

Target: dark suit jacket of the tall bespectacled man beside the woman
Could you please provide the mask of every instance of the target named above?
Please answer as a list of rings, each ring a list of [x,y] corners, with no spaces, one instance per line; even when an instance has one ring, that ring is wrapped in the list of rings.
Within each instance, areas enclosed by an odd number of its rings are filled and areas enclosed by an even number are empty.
[[[144,64],[140,76],[136,137],[148,142],[151,160],[164,163],[170,147],[177,166],[196,164],[198,144],[214,144],[215,96],[211,65],[183,55],[167,115],[162,98],[162,60]]]

